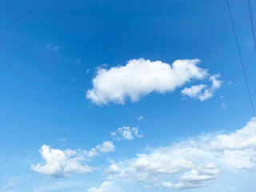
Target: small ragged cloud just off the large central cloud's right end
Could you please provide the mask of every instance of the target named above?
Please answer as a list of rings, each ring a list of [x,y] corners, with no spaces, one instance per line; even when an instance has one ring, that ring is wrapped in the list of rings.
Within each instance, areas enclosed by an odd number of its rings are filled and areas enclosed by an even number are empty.
[[[201,102],[205,101],[208,98],[214,96],[215,90],[218,90],[222,86],[222,81],[220,81],[220,74],[214,74],[210,76],[210,82],[212,85],[210,87],[200,84],[197,86],[190,86],[190,88],[185,88],[182,90],[183,96],[188,96],[190,98],[198,98]]]

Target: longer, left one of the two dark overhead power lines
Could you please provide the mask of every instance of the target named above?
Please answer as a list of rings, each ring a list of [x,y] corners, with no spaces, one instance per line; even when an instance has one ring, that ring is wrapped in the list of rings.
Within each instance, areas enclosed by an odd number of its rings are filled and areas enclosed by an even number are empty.
[[[241,62],[241,65],[242,65],[242,71],[243,71],[244,78],[245,78],[245,80],[246,80],[246,87],[247,87],[247,91],[248,91],[249,98],[250,98],[250,106],[251,106],[251,109],[253,110],[254,120],[255,120],[255,117],[256,117],[256,116],[255,116],[254,104],[253,104],[253,101],[252,101],[251,95],[250,95],[250,88],[249,88],[249,84],[248,84],[248,80],[247,80],[247,76],[246,76],[245,66],[243,65],[243,62],[242,62],[241,51],[240,51],[240,47],[239,47],[239,44],[238,44],[237,33],[235,32],[235,28],[234,28],[234,22],[233,22],[232,14],[231,14],[231,11],[230,11],[230,3],[229,3],[229,0],[226,0],[226,3],[227,3],[227,6],[228,6],[228,8],[229,8],[230,19],[231,19],[232,26],[233,26],[233,31],[234,31],[234,38],[235,38],[235,41],[237,42],[238,53],[239,53],[240,62]],[[256,121],[256,120],[255,120],[255,121]]]

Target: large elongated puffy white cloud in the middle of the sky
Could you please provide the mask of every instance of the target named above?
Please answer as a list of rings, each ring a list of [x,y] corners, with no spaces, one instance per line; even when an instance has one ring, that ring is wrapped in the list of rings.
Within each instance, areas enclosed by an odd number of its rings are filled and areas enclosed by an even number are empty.
[[[86,97],[102,105],[109,102],[124,104],[126,98],[138,102],[142,96],[152,92],[164,94],[191,79],[205,78],[207,70],[198,67],[198,62],[199,59],[176,60],[171,66],[140,58],[128,61],[126,66],[99,69],[92,81],[93,88],[87,91]]]

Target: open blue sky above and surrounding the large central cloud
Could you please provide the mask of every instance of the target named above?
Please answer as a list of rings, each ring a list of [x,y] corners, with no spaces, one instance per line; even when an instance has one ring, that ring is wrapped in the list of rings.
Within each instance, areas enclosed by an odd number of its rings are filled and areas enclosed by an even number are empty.
[[[256,102],[248,7],[238,0],[230,7]],[[0,1],[0,38],[2,164],[37,156],[43,144],[62,148],[58,138],[67,139],[64,148],[90,149],[110,138],[110,130],[139,126],[145,138],[117,149],[129,156],[147,144],[238,129],[252,117],[224,0]],[[51,52],[49,43],[62,48]],[[125,106],[101,107],[86,99],[97,66],[125,65],[132,58],[170,64],[200,58],[200,66],[219,72],[224,85],[206,102],[181,100],[179,89]],[[146,120],[138,122],[138,115]]]

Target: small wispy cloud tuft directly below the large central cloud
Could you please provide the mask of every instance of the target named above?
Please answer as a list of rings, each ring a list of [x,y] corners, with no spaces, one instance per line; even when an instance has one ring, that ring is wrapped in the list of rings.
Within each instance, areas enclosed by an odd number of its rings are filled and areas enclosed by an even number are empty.
[[[134,137],[143,138],[143,134],[138,133],[138,127],[130,126],[122,126],[117,131],[112,132],[111,135],[117,140],[121,138],[125,140],[134,140]]]

